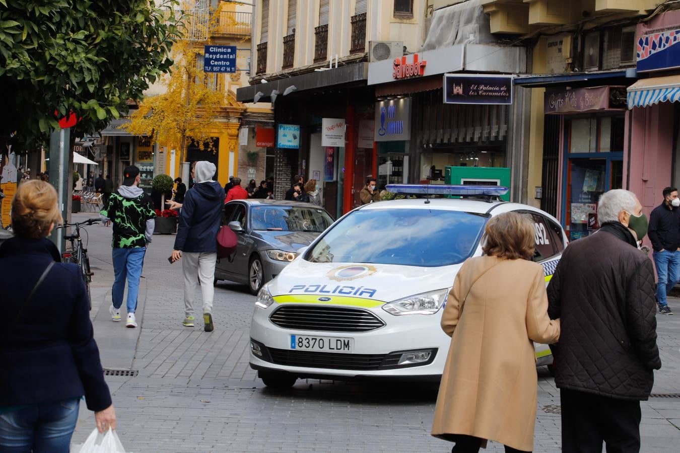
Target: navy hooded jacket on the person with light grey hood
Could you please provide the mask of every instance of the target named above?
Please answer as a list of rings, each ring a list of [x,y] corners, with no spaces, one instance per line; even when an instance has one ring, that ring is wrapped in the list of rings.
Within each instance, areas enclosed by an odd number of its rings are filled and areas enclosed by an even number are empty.
[[[217,181],[197,183],[189,189],[182,204],[175,250],[216,252],[223,205],[224,189]]]

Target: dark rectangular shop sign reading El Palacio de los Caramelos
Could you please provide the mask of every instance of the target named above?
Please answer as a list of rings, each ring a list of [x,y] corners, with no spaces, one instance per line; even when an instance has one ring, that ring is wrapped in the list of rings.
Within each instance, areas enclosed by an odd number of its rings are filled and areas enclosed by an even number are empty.
[[[444,74],[445,104],[512,104],[511,75]]]

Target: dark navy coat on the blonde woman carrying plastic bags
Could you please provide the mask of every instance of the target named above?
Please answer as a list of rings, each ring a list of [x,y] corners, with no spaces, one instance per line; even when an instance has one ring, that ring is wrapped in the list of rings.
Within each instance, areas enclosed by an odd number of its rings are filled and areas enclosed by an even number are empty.
[[[20,307],[50,261],[57,261]],[[61,263],[47,239],[11,238],[0,247],[0,407],[52,403],[85,395],[89,410],[111,405],[92,336],[88,294],[80,269]],[[9,336],[7,336],[9,332]]]

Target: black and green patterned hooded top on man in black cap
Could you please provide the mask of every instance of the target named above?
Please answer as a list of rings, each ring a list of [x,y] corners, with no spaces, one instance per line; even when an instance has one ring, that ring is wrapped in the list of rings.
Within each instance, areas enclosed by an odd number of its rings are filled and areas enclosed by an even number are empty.
[[[118,193],[106,200],[99,212],[104,221],[114,225],[114,249],[136,249],[146,247],[154,234],[156,211],[151,198],[136,185],[121,185]]]

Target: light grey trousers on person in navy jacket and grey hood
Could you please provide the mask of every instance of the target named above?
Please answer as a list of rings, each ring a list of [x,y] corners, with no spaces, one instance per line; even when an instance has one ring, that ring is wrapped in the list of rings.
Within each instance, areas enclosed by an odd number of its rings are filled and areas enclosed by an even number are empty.
[[[182,252],[182,270],[184,271],[184,314],[193,316],[194,295],[196,287],[201,281],[201,295],[203,295],[203,313],[212,312],[212,302],[215,295],[213,280],[215,278],[215,264],[217,253]]]

